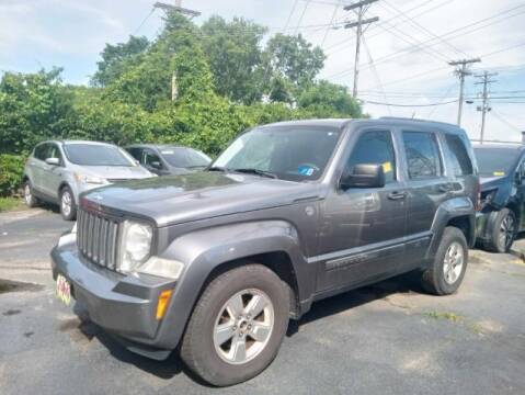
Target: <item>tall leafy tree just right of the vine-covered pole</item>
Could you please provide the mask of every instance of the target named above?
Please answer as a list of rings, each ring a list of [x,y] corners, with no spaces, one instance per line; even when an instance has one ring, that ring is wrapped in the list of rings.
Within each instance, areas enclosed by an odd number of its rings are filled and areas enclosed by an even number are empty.
[[[266,29],[243,19],[212,16],[201,27],[216,92],[235,102],[261,100],[261,41]]]

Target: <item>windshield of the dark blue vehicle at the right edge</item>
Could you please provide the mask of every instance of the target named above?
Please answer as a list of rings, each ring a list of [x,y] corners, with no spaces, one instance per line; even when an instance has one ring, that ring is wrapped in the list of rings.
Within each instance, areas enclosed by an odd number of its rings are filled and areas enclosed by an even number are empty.
[[[503,177],[512,171],[520,151],[514,148],[475,148],[479,173],[484,177]]]

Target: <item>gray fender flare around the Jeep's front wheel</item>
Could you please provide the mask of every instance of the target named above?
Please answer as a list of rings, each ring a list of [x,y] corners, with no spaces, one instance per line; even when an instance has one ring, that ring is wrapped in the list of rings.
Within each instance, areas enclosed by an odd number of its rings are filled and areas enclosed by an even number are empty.
[[[174,349],[212,272],[227,262],[269,252],[285,252],[294,269],[299,301],[313,290],[316,272],[307,264],[297,229],[285,221],[228,224],[185,234],[159,255],[185,264],[174,286],[169,314],[159,328],[160,347]],[[311,273],[310,273],[311,271]]]

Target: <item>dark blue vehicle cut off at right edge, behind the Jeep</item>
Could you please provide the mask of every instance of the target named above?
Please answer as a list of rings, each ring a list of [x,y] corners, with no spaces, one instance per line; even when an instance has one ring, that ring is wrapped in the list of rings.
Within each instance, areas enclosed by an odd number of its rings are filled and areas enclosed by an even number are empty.
[[[516,235],[525,230],[525,147],[475,147],[481,177],[479,244],[493,252],[507,252]]]

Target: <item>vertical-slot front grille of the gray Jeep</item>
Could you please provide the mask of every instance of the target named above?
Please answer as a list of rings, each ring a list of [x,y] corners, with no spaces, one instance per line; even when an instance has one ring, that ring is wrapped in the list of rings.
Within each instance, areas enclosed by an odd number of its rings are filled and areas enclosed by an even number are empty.
[[[89,261],[118,271],[119,223],[82,208],[77,215],[77,246]]]

